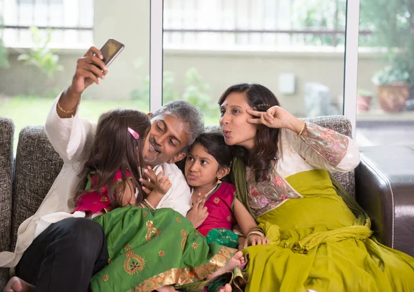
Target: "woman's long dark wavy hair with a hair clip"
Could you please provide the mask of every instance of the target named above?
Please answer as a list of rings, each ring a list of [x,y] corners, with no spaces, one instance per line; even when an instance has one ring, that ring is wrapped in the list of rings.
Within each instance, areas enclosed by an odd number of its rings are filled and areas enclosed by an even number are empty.
[[[266,112],[272,106],[280,106],[275,95],[266,87],[259,84],[236,84],[227,88],[219,99],[219,105],[230,93],[244,93],[249,106],[259,112]],[[230,146],[235,157],[243,159],[244,163],[253,168],[257,183],[269,179],[268,168],[277,160],[277,142],[279,129],[268,128],[264,125],[257,127],[255,136],[255,148],[251,153],[243,146]]]

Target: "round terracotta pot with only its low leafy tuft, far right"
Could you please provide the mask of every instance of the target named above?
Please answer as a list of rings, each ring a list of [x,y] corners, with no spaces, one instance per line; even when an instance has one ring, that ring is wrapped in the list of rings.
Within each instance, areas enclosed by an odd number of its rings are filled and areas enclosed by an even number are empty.
[[[397,64],[386,66],[375,73],[373,83],[377,85],[377,98],[381,108],[388,113],[398,113],[410,97],[410,72]]]

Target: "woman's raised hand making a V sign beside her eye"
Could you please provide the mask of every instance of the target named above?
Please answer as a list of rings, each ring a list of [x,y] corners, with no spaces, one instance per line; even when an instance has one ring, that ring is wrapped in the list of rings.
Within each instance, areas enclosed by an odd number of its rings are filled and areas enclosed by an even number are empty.
[[[257,110],[247,110],[249,115],[259,117],[259,119],[247,119],[250,124],[262,124],[269,128],[288,128],[299,134],[304,126],[304,121],[297,119],[294,115],[288,113],[287,110],[280,106],[272,106],[266,112],[258,112]]]

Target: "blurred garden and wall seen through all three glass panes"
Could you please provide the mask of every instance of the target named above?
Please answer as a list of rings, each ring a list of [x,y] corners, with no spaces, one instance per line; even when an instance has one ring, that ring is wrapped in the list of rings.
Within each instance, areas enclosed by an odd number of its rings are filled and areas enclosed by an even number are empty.
[[[414,144],[414,0],[360,3],[357,142]],[[164,0],[163,21],[164,103],[217,124],[221,93],[256,82],[297,117],[343,114],[346,0]],[[92,120],[149,110],[150,1],[0,0],[0,115],[17,133],[44,124],[76,60],[109,37],[125,49],[83,95]]]

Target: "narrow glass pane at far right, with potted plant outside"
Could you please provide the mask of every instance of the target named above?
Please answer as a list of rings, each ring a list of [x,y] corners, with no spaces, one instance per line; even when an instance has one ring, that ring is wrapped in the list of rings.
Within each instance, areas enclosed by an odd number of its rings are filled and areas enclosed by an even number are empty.
[[[413,1],[360,6],[357,142],[414,144]]]

